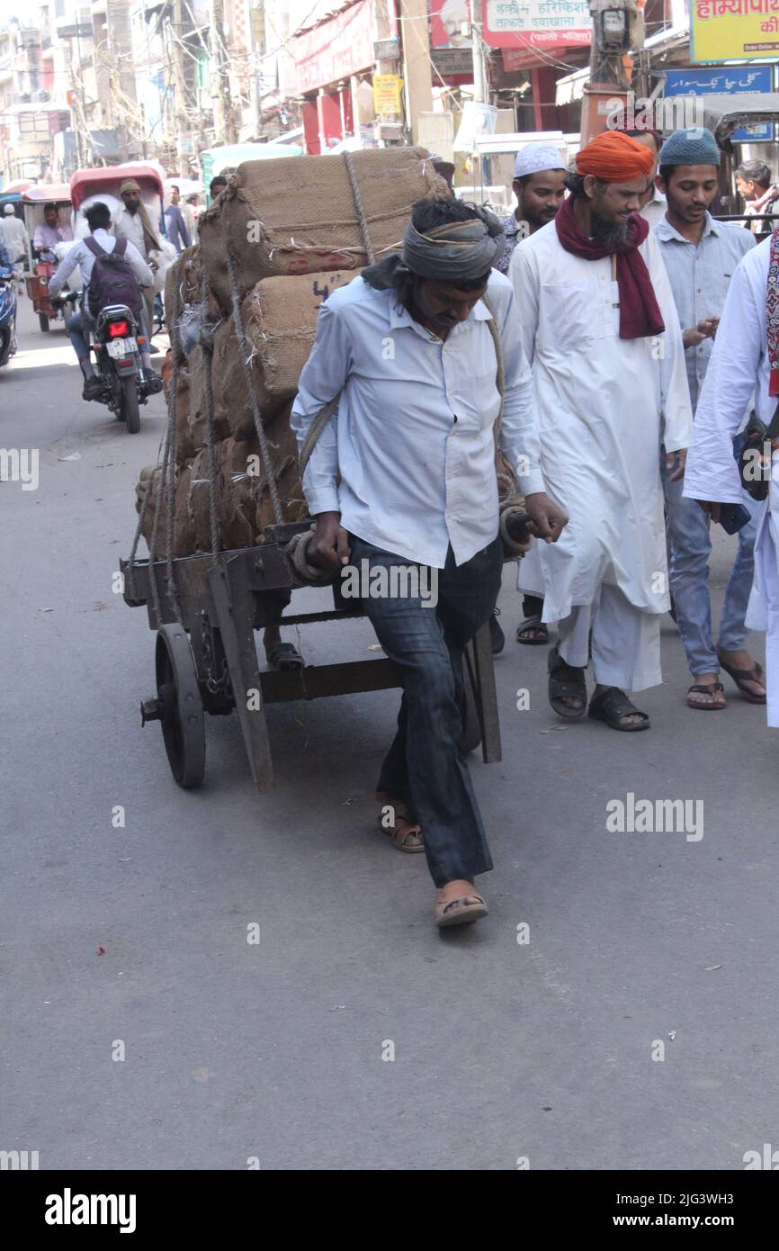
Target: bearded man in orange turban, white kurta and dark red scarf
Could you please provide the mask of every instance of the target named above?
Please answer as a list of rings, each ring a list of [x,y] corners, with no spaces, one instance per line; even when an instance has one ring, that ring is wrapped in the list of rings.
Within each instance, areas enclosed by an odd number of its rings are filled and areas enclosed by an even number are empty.
[[[670,602],[660,448],[679,478],[691,433],[673,294],[658,244],[634,216],[646,165],[651,154],[625,135],[588,144],[576,158],[571,200],[516,248],[509,273],[533,367],[541,472],[570,518],[559,542],[528,562],[521,585],[543,597],[544,622],[559,622],[553,708],[566,717],[585,711],[591,629],[590,716],[615,729],[649,724],[623,689],[661,682],[660,617]],[[560,230],[576,226],[585,249],[606,254],[590,259],[564,246]],[[633,250],[650,283],[649,290],[641,269],[640,298],[616,280],[628,231],[641,238]],[[630,264],[635,274],[634,256]],[[553,698],[555,667],[568,686]]]

